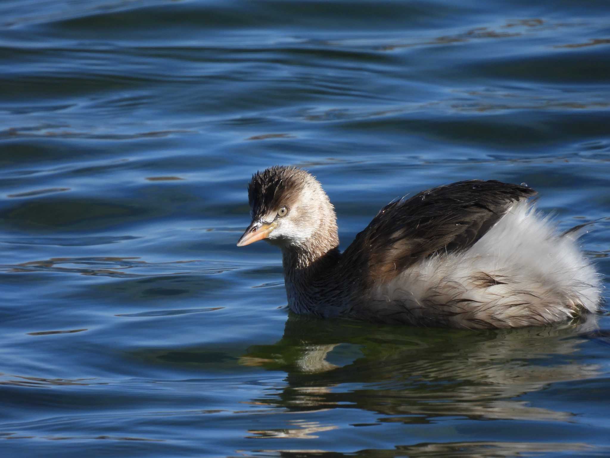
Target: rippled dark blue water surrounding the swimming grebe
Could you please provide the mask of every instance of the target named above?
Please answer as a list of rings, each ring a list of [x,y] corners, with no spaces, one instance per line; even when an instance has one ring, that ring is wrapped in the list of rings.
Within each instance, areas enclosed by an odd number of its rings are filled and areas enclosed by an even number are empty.
[[[293,316],[238,249],[306,167],[342,247],[392,198],[528,183],[610,216],[607,1],[0,3],[2,456],[608,456],[610,317]],[[606,285],[610,224],[583,239]],[[608,293],[604,293],[608,298]]]

